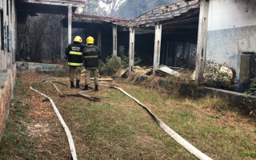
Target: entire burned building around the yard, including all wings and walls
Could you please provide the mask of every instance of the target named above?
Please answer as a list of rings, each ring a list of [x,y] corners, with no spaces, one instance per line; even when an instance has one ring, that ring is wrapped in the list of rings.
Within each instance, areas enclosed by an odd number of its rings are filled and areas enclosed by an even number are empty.
[[[238,91],[250,86],[256,75],[255,2],[226,0],[183,0],[157,7],[134,19],[74,14],[86,4],[79,0],[0,0],[0,138],[8,117],[15,78],[17,22],[37,13],[64,14],[60,24],[61,58],[64,58],[64,35],[71,43],[72,28],[81,28],[82,37],[93,36],[102,50],[102,58],[118,56],[118,46],[129,52],[129,70],[134,58],[153,66],[182,66],[196,70],[196,82],[203,81],[207,61],[234,69]]]

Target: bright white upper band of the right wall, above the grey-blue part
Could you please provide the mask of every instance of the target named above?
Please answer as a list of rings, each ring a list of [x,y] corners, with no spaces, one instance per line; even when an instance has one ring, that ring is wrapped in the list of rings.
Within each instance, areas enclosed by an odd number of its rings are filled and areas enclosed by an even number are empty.
[[[208,30],[256,26],[256,0],[210,0]]]

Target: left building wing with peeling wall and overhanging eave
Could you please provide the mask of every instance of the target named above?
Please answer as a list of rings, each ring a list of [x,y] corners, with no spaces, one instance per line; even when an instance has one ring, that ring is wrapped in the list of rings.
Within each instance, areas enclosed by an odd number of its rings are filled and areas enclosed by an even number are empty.
[[[65,0],[0,0],[0,139],[8,118],[17,73],[15,61],[17,34],[19,34],[17,22],[26,22],[27,15],[37,13],[67,14],[71,18],[72,12],[78,6],[86,5],[82,1]]]

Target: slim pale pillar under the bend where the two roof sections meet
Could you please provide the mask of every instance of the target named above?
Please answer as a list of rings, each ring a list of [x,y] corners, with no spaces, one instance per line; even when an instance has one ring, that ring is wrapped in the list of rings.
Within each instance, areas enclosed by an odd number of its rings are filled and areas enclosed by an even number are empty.
[[[134,42],[135,42],[135,30],[130,27],[130,42],[129,42],[129,72],[134,70]]]

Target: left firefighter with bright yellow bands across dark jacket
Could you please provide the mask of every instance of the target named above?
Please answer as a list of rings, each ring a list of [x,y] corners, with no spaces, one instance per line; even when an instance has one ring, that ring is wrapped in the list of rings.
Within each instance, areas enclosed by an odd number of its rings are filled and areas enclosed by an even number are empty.
[[[79,88],[80,75],[82,63],[82,50],[85,45],[82,43],[82,38],[76,36],[74,42],[66,46],[66,59],[68,59],[67,65],[70,66],[70,88],[74,88],[74,74],[77,80],[76,88]]]

